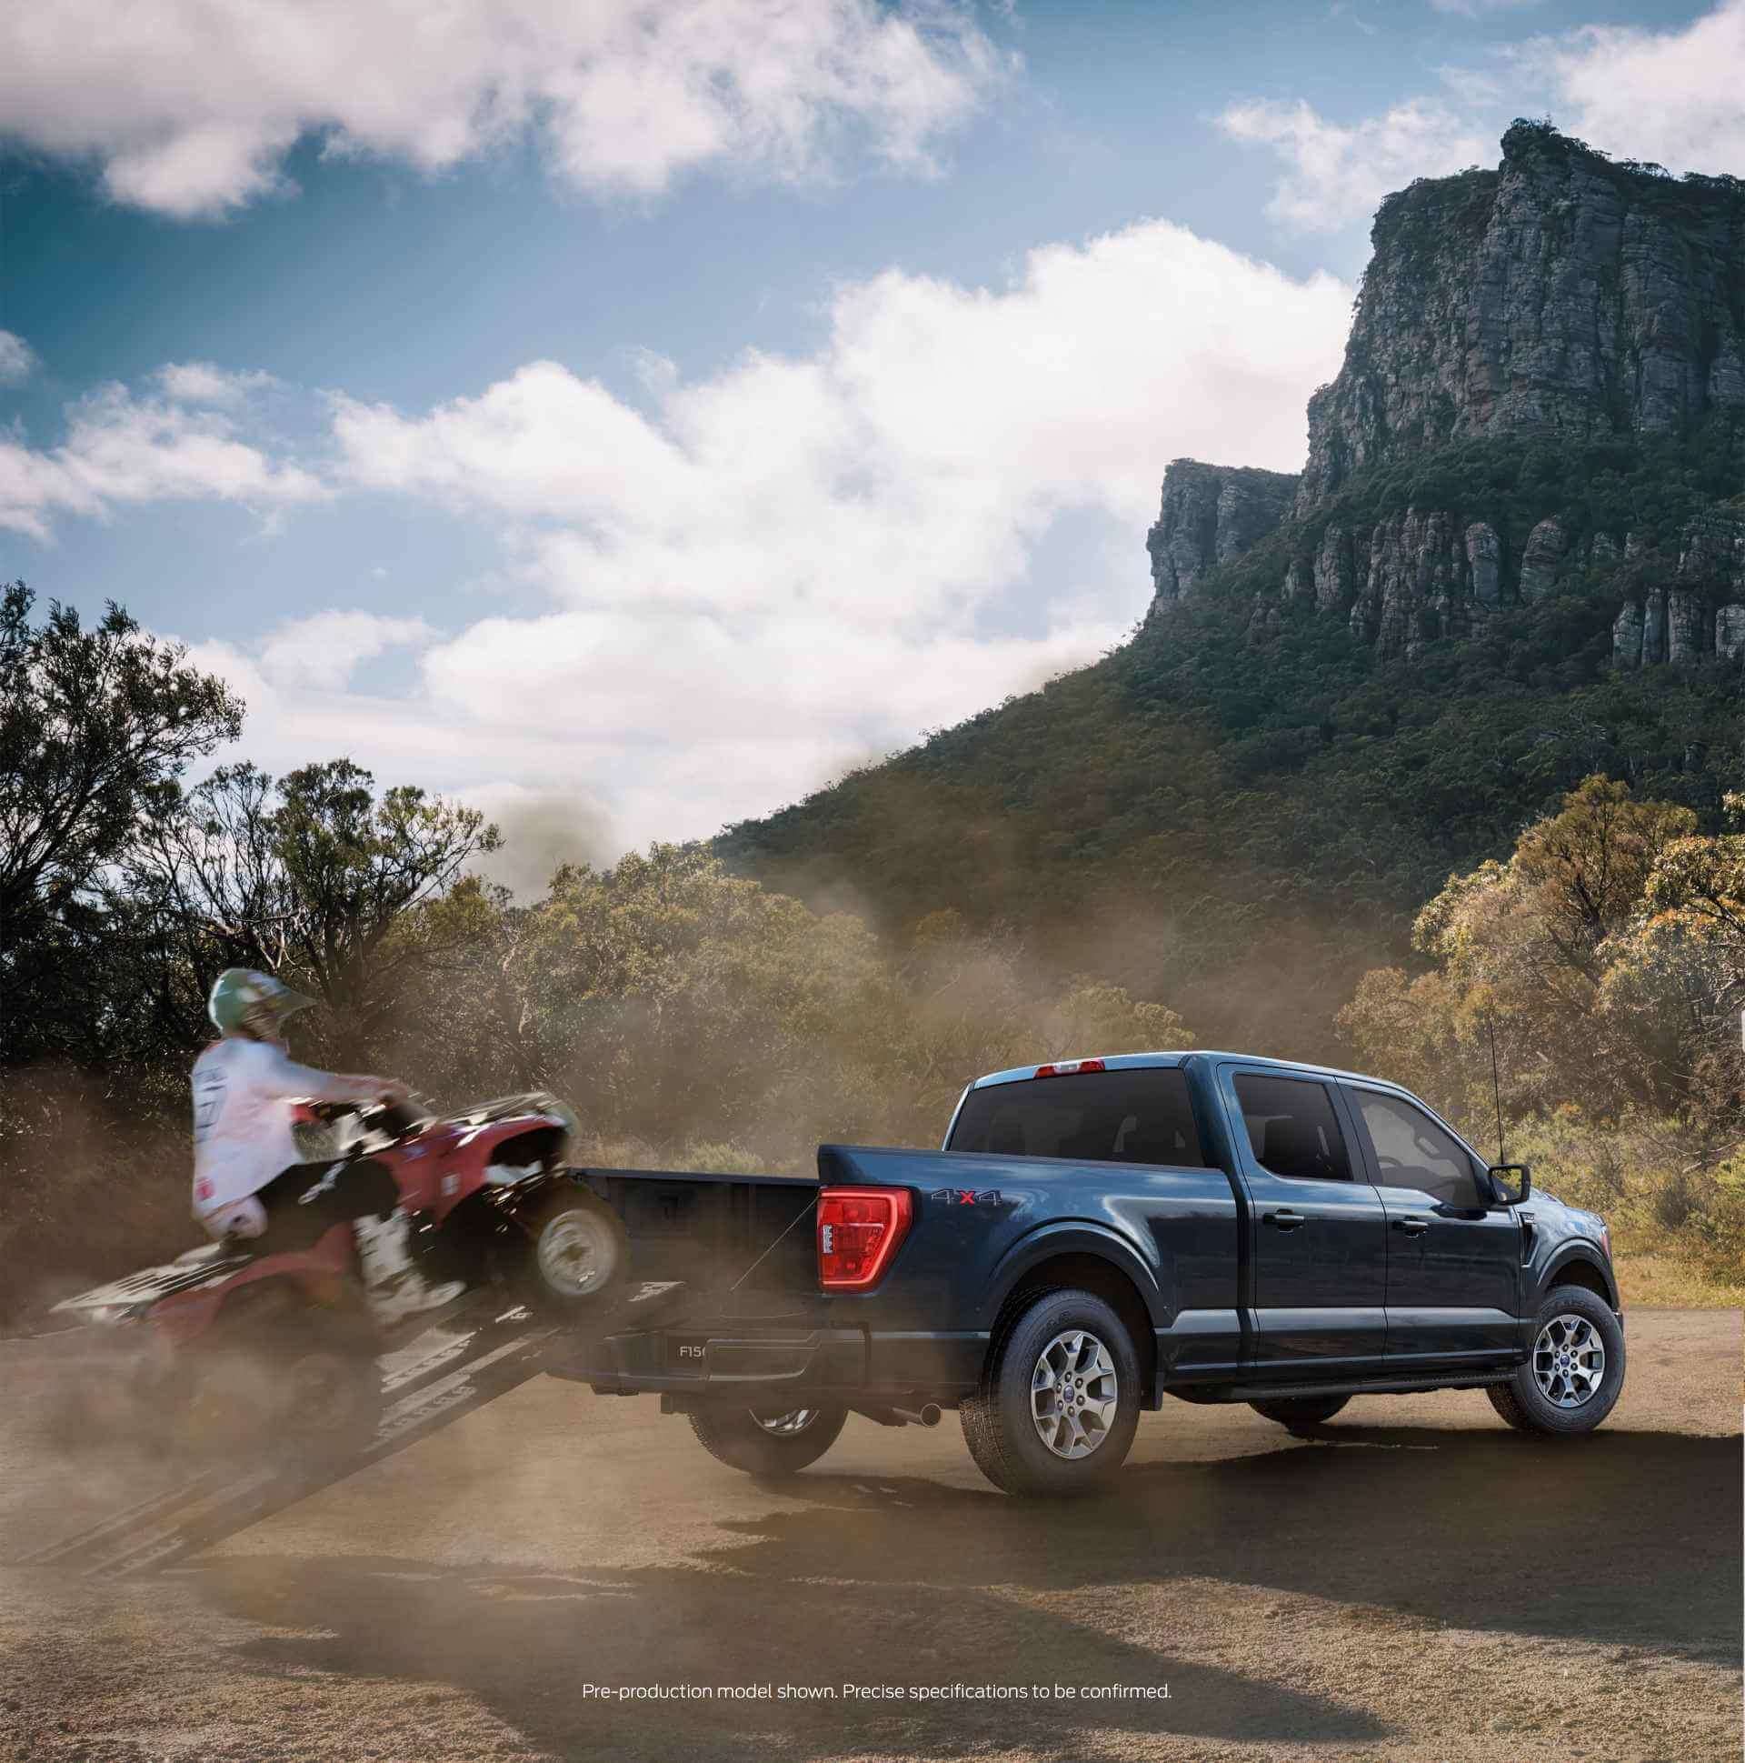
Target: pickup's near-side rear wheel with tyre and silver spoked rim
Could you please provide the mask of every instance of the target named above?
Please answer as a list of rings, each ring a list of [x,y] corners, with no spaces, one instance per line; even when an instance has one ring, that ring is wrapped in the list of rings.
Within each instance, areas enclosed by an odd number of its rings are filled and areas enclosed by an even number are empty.
[[[1139,1428],[1139,1352],[1093,1292],[1043,1292],[994,1336],[959,1419],[976,1469],[1006,1493],[1077,1495],[1126,1460]]]

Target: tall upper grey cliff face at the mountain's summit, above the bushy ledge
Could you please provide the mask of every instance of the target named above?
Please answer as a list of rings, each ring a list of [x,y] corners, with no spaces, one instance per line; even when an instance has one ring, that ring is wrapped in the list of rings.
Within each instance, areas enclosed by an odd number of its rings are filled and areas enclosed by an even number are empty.
[[[1345,365],[1310,398],[1297,511],[1467,437],[1597,441],[1745,418],[1745,185],[1516,123],[1496,171],[1377,212]]]

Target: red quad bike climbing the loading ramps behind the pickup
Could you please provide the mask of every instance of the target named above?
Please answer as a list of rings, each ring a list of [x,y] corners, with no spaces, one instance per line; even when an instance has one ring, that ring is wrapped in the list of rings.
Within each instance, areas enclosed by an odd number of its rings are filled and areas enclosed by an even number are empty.
[[[460,1280],[469,1296],[545,1315],[603,1308],[624,1285],[624,1225],[568,1171],[575,1116],[553,1097],[506,1097],[451,1120],[416,1102],[303,1114],[335,1134],[349,1125],[345,1155],[386,1165],[432,1283]],[[104,1393],[111,1425],[206,1451],[361,1447],[382,1410],[377,1354],[434,1320],[375,1322],[349,1224],[293,1253],[252,1255],[227,1238],[55,1308],[134,1324],[132,1375]]]

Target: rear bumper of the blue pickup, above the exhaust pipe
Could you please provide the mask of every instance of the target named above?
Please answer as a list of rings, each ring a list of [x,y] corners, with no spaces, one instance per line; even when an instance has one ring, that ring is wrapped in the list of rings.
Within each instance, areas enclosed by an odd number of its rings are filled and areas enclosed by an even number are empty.
[[[598,1395],[691,1402],[786,1402],[846,1407],[955,1405],[975,1389],[985,1333],[883,1333],[865,1328],[686,1319],[608,1335],[550,1366]]]

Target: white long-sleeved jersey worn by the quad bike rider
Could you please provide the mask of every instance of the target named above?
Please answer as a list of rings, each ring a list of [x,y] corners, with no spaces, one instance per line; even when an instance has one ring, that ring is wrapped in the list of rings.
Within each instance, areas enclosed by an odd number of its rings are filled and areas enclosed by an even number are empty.
[[[351,1102],[356,1081],[296,1065],[266,1040],[226,1037],[194,1061],[194,1216],[234,1206],[301,1162],[296,1102]]]

